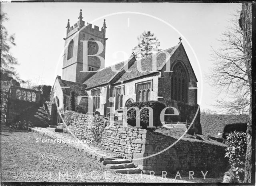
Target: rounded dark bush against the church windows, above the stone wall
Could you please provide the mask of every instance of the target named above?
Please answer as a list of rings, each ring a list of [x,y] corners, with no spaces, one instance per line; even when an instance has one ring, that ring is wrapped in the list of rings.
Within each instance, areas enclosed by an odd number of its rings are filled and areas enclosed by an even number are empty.
[[[153,109],[153,126],[161,126],[162,123],[160,121],[160,113],[166,107],[163,103],[158,101],[143,101],[143,102],[135,102],[128,103],[126,105],[127,109],[130,107],[138,107],[142,109],[143,107],[150,107]],[[136,111],[135,109],[130,109],[127,112],[127,123],[131,126],[136,126]],[[149,110],[142,109],[140,111],[140,126],[142,129],[152,130],[154,128],[147,128],[149,126]]]

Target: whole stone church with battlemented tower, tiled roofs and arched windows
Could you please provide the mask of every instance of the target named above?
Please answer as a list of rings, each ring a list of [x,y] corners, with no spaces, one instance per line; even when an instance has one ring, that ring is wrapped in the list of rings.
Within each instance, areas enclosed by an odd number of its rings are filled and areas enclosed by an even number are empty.
[[[104,48],[99,56],[105,59],[107,40],[105,20],[99,29],[98,26],[92,28],[89,23],[85,25],[82,19],[80,10],[78,22],[70,27],[68,20],[66,26],[62,77],[56,77],[52,90],[52,97],[58,99],[58,107],[69,107],[70,92],[74,91],[76,107],[83,113],[88,112],[87,96],[93,96],[93,111],[100,115],[108,115],[108,107],[114,107],[115,115],[122,119],[122,107],[127,103],[154,100],[161,101],[166,106],[176,107],[179,110],[180,122],[190,120],[191,115],[195,113],[194,108],[198,106],[198,81],[181,42],[158,53],[156,65],[152,65],[153,55],[141,59],[143,72],[138,70],[135,56],[115,64],[114,71],[111,66],[104,67],[99,57],[88,56],[88,72],[82,72],[84,50],[87,50],[88,55],[94,55],[99,46],[93,41],[101,42]],[[83,48],[83,40],[88,41],[86,49]],[[170,54],[169,64],[166,52]],[[128,71],[125,70],[127,68]],[[155,69],[152,70],[153,68]],[[110,97],[114,98],[113,101]],[[54,106],[55,103],[52,104]],[[196,123],[200,125],[200,121],[196,120]],[[198,129],[199,133],[200,130]]]

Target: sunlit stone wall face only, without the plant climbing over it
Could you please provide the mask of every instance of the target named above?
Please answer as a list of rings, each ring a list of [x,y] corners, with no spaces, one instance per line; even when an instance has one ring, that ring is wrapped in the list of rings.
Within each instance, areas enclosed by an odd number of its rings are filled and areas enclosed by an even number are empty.
[[[92,140],[93,135],[91,129],[88,126],[88,115],[82,113],[76,113],[73,111],[66,111],[67,113],[73,113],[73,122],[68,126],[70,131],[78,138],[85,140]],[[64,128],[67,132],[68,129]],[[116,152],[123,158],[132,159],[135,152],[143,152],[142,143],[146,138],[147,131],[145,129],[138,129],[133,127],[122,127],[120,123],[115,123],[107,126],[102,133],[102,139],[99,143],[100,146]]]

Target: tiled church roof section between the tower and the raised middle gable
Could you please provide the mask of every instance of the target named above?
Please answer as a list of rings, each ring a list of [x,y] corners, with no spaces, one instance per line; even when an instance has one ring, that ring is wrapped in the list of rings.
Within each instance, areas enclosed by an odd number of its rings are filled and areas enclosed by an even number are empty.
[[[128,61],[130,59],[128,59]],[[112,66],[115,66],[116,70],[119,71],[124,67],[124,61]],[[100,71],[92,75],[92,77],[84,81],[83,84],[86,84],[88,89],[109,83],[109,81],[118,74],[118,72],[114,72],[112,70],[112,66],[101,69]]]

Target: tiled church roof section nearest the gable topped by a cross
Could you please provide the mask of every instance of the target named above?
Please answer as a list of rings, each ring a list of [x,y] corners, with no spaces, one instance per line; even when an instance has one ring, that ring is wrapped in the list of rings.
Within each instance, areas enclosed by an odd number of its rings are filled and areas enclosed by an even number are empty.
[[[169,49],[166,49],[164,51],[167,51],[172,56],[172,54],[178,48],[178,46],[180,46],[180,44],[178,44],[177,46],[171,47]],[[115,83],[122,83],[124,81],[142,77],[144,75],[156,73],[152,71],[152,55],[149,55],[148,57],[141,59],[141,69],[144,72],[138,71],[137,62],[138,61],[135,61],[135,63],[129,68],[131,72],[125,72]],[[164,67],[165,63],[166,63],[166,55],[164,53],[160,53],[157,56],[156,70],[160,71]]]

